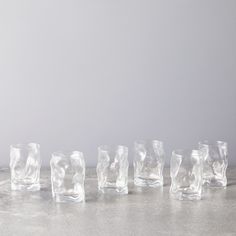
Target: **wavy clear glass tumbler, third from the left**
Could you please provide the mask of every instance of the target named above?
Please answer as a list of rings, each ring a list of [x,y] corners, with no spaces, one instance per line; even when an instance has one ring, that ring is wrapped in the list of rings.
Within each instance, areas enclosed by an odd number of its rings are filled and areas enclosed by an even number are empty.
[[[98,189],[102,193],[128,194],[128,148],[98,148]]]

